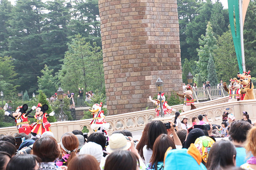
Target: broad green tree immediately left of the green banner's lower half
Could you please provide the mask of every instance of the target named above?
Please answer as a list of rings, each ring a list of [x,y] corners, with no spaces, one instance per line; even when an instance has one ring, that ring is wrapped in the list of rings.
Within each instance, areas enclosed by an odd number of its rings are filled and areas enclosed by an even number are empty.
[[[213,53],[219,81],[229,82],[230,78],[237,77],[239,67],[230,29],[218,37],[217,48]]]

